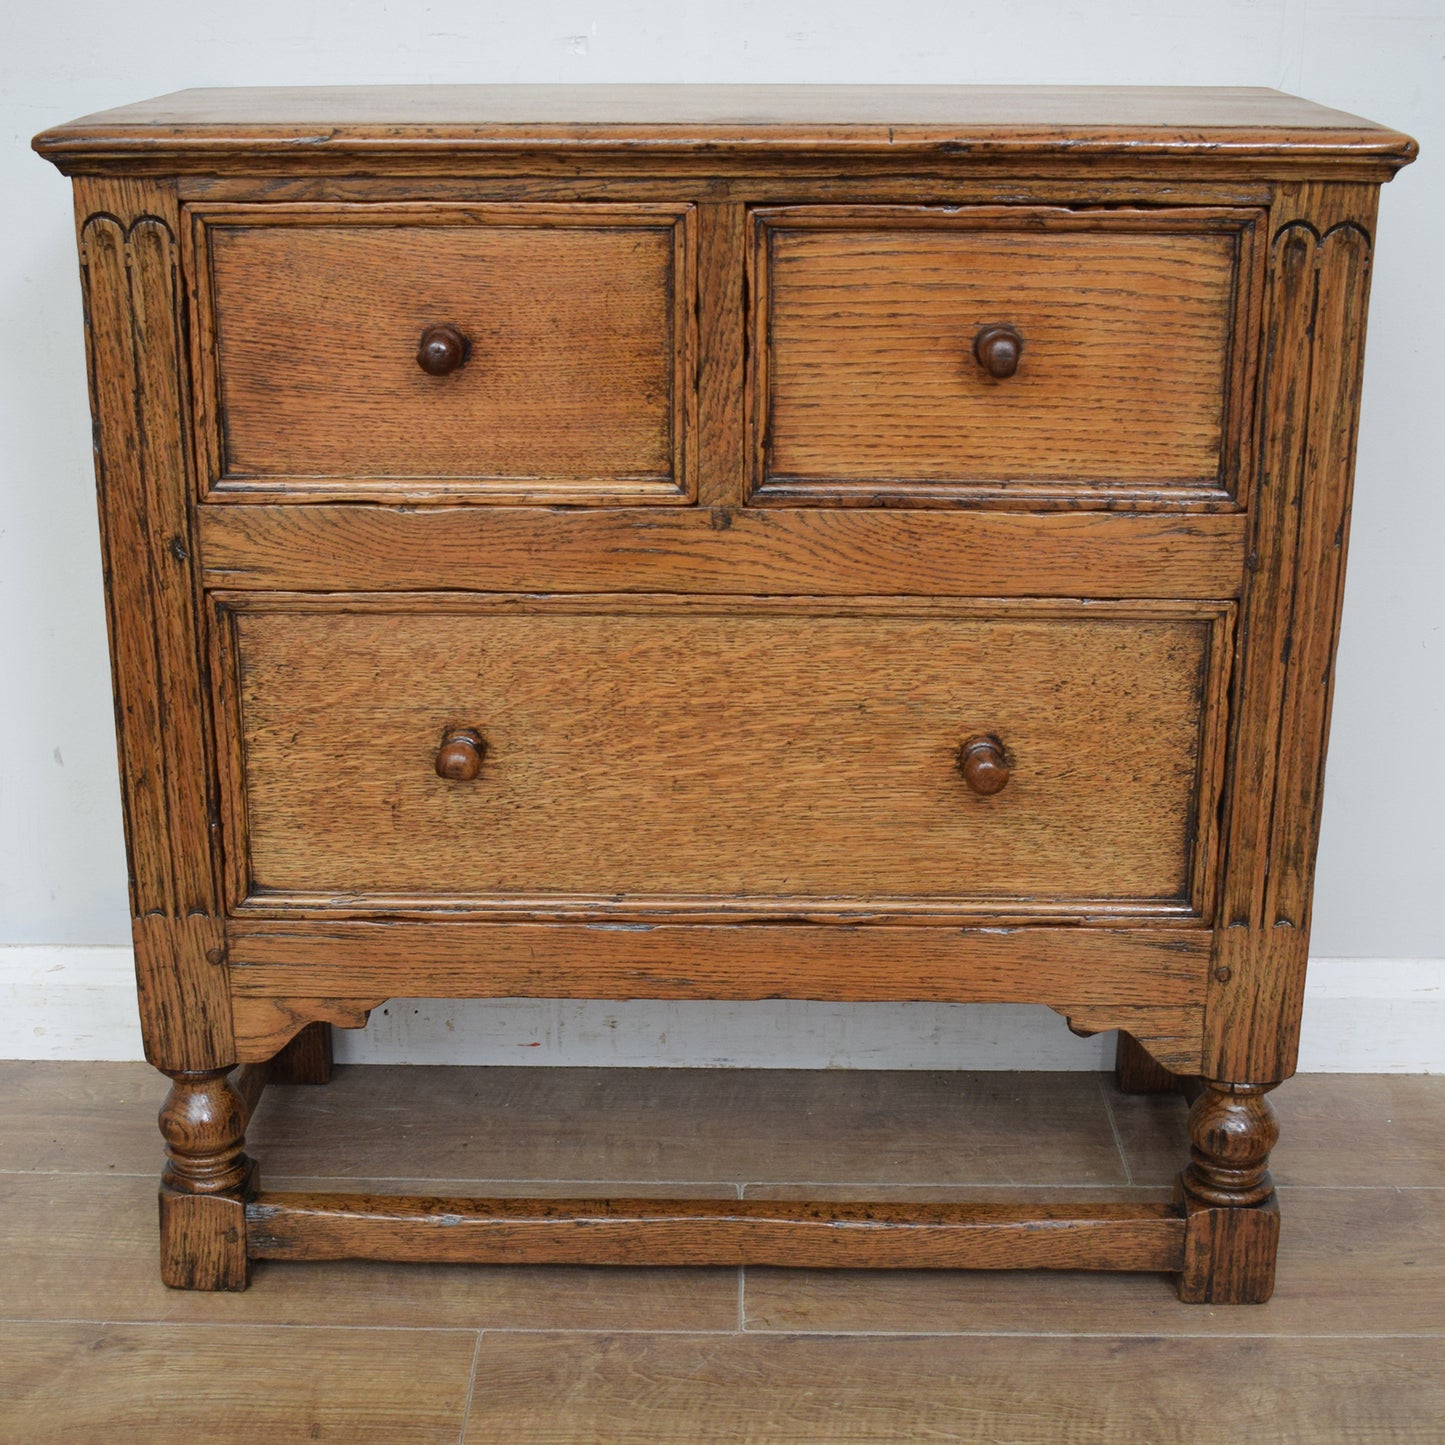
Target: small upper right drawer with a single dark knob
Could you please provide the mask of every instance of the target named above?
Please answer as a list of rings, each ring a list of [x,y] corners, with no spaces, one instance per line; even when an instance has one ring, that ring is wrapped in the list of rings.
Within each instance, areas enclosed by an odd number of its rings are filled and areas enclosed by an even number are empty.
[[[1241,503],[1261,214],[754,211],[754,500]]]

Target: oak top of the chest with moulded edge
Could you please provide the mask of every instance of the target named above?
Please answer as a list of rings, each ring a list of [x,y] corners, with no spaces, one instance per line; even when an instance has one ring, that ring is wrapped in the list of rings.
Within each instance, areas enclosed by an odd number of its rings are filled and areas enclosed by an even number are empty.
[[[954,85],[431,85],[179,91],[36,137],[62,166],[215,169],[227,152],[292,169],[351,158],[509,152],[733,152],[896,156],[899,163],[1055,158],[1077,169],[1120,158],[1277,173],[1290,165],[1383,179],[1413,142],[1373,121],[1261,88]],[[207,160],[210,165],[207,166]]]

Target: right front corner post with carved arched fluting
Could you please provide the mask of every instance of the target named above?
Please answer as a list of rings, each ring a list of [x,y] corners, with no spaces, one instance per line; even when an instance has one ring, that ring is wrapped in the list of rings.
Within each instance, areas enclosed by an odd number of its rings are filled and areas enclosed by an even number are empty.
[[[1287,1078],[1344,584],[1376,191],[1289,188],[1272,214],[1260,496],[1225,803],[1208,1072]]]

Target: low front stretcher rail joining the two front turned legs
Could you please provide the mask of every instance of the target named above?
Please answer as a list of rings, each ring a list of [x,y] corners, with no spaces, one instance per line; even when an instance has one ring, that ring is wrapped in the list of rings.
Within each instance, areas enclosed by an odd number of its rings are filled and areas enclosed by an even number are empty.
[[[262,1194],[251,1259],[1175,1270],[1166,1204],[828,1204]]]

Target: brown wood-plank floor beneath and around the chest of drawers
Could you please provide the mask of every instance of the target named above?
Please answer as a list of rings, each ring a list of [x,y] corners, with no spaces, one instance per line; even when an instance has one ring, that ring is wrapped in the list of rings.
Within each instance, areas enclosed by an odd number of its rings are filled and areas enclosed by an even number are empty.
[[[256,1269],[156,1279],[143,1065],[0,1064],[0,1441],[1445,1439],[1445,1078],[1274,1095],[1279,1289],[1153,1276]],[[1162,1198],[1183,1105],[1092,1074],[340,1069],[267,1188]]]

